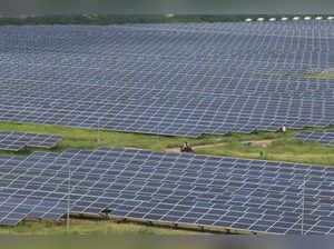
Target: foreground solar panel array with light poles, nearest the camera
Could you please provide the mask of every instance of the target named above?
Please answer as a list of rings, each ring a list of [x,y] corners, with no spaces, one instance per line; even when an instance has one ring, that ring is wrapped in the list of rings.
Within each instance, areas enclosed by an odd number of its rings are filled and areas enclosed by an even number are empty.
[[[330,167],[116,148],[0,156],[0,223],[59,219],[70,193],[78,213],[333,235],[333,178]]]

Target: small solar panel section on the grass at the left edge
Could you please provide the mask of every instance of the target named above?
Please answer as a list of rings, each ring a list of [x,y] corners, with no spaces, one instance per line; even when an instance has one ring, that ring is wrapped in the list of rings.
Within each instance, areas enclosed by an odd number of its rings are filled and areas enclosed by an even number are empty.
[[[24,147],[50,149],[61,139],[61,136],[0,131],[0,150],[19,151]]]

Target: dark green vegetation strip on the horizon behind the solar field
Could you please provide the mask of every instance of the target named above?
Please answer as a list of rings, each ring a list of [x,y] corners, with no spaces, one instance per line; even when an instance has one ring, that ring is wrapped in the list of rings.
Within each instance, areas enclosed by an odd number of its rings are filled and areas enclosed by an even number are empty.
[[[303,17],[306,17],[304,14]],[[293,16],[285,16],[292,18]],[[311,14],[310,17],[316,17]],[[226,22],[244,21],[247,18],[282,18],[268,14],[77,14],[77,16],[31,16],[2,17],[0,26],[4,24],[124,24],[124,23],[176,23],[176,22]]]

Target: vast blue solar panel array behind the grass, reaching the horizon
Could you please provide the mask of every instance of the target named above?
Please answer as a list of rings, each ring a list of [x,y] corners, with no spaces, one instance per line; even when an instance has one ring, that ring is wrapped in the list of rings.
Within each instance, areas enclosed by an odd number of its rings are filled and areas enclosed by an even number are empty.
[[[0,120],[198,137],[334,123],[331,21],[0,27]]]

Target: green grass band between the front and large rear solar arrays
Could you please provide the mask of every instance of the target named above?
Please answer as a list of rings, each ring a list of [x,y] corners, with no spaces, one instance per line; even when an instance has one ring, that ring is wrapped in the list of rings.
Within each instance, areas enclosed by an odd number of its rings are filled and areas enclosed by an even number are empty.
[[[56,148],[50,150],[52,152],[61,152],[69,148],[95,150],[98,147],[134,147],[138,149],[164,151],[167,148],[179,147],[187,141],[191,146],[225,143],[224,146],[196,149],[195,153],[259,159],[259,153],[263,151],[265,155],[264,159],[266,160],[334,166],[334,147],[295,141],[292,138],[297,131],[294,130],[288,130],[285,135],[281,132],[258,132],[257,135],[230,133],[227,136],[206,135],[197,139],[101,131],[100,143],[98,143],[98,131],[90,129],[0,122],[0,130],[63,136],[65,139],[60,141]],[[322,129],[308,128],[308,130]],[[267,148],[244,146],[244,141],[266,139],[275,141]],[[0,151],[0,153],[26,156],[36,150],[41,149],[27,148],[19,152]]]

